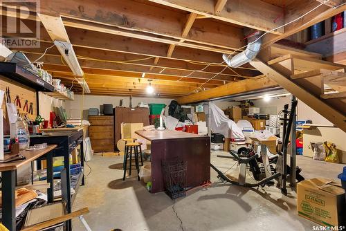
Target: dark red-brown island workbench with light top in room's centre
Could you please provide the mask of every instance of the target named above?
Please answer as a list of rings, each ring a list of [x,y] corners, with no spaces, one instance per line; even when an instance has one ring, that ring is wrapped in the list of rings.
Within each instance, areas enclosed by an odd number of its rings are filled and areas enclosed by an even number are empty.
[[[196,187],[210,180],[210,138],[183,131],[136,131],[152,142],[152,193],[165,190],[162,160],[187,161],[186,186]]]

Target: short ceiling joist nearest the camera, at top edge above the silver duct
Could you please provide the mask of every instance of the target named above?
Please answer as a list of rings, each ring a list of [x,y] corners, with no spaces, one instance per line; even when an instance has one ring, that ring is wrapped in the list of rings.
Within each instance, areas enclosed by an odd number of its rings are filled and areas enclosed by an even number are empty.
[[[284,19],[277,19],[278,12],[282,12],[282,8],[274,6],[270,3],[257,0],[232,0],[226,2],[224,9],[215,14],[214,0],[149,0],[160,3],[172,8],[195,12],[198,15],[205,15],[221,21],[227,21],[232,24],[246,26],[256,30],[270,31],[277,26],[284,24]],[[275,21],[275,19],[277,19]],[[271,32],[281,34],[284,30],[279,29]]]

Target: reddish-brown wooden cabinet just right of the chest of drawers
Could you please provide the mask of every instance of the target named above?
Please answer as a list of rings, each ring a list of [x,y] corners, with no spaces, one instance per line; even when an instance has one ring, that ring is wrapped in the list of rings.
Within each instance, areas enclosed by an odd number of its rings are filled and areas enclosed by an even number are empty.
[[[129,107],[116,107],[114,115],[114,124],[116,130],[115,142],[118,142],[118,140],[121,138],[120,127],[122,122],[143,122],[143,126],[149,125],[149,109],[147,108],[130,109]]]

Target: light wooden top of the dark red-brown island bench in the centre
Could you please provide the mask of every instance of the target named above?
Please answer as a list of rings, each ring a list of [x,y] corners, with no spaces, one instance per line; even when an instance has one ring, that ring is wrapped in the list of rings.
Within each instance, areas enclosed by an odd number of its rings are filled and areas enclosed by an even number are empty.
[[[194,133],[188,133],[184,131],[170,131],[170,130],[153,130],[153,131],[145,131],[145,130],[138,130],[135,131],[135,133],[139,136],[142,136],[143,138],[147,140],[168,140],[168,139],[183,139],[183,138],[201,138],[206,136],[200,136]]]

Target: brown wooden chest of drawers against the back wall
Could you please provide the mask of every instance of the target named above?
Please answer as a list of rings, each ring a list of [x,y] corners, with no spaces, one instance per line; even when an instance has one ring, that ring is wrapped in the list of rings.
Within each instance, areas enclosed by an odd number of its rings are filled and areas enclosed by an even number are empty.
[[[89,115],[89,122],[89,138],[93,151],[114,151],[114,116]]]

